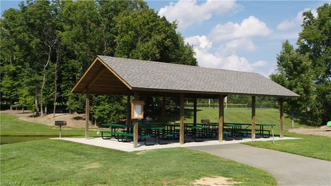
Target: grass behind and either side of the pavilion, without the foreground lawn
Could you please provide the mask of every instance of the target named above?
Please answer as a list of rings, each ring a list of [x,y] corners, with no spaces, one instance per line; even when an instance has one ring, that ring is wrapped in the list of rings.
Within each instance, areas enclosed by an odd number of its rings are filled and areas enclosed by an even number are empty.
[[[225,110],[225,122],[231,123],[250,123],[250,110]],[[58,127],[51,127],[39,123],[29,123],[19,121],[16,116],[10,114],[1,114],[1,141],[21,141],[17,136],[57,136],[59,133]],[[218,110],[212,108],[198,109],[197,120],[208,118],[211,122],[217,122]],[[167,115],[168,122],[177,122],[177,116],[174,114]],[[185,109],[185,122],[192,123],[192,109]],[[275,134],[279,134],[279,111],[278,110],[257,110],[257,123],[273,123]],[[285,114],[285,130],[291,126],[291,118]],[[299,120],[294,120],[295,127],[307,127]],[[63,136],[83,136],[84,129],[65,127]],[[90,132],[91,136],[95,136],[95,132]],[[4,137],[7,136],[7,137]],[[331,161],[331,139],[323,136],[303,135],[285,132],[285,136],[297,137],[301,139],[277,141],[272,144],[270,141],[246,143],[257,147],[268,149],[276,149],[292,154],[300,154],[312,158],[319,158]],[[8,139],[9,138],[9,139]],[[23,137],[25,141],[27,137]],[[34,138],[32,138],[34,139]],[[31,140],[31,139],[28,139]]]

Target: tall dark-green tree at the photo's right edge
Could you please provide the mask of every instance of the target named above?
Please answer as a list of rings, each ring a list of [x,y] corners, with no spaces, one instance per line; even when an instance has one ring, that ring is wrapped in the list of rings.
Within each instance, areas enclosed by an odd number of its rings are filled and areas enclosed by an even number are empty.
[[[303,13],[303,30],[297,45],[301,54],[307,54],[314,69],[315,104],[322,125],[331,120],[331,5],[325,3],[312,12]],[[317,112],[316,111],[316,112]]]

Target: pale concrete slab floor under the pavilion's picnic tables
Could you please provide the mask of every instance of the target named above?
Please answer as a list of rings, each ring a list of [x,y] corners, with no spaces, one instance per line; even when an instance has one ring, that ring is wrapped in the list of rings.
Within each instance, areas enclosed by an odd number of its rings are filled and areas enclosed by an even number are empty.
[[[197,147],[197,146],[208,146],[208,145],[226,145],[226,144],[234,144],[234,143],[245,143],[252,141],[251,138],[243,138],[242,140],[233,140],[233,141],[223,141],[219,142],[215,140],[215,138],[206,138],[205,141],[202,142],[188,142],[183,145],[179,144],[178,140],[170,140],[168,141],[168,144],[166,145],[151,145],[146,146],[143,144],[143,141],[139,142],[139,145],[137,148],[133,147],[132,142],[123,143],[117,141],[117,139],[108,139],[104,140],[102,138],[52,138],[57,140],[65,140],[65,141],[72,141],[76,143],[83,143],[86,145],[94,145],[98,147],[105,147],[109,149],[117,149],[125,152],[134,152],[134,151],[142,151],[142,150],[150,150],[150,149],[165,149],[165,148],[174,148],[174,147]],[[290,138],[290,137],[274,137],[275,143],[280,140],[292,140],[292,139],[298,139],[298,138]],[[257,138],[255,141],[272,141],[272,138]],[[152,143],[154,140],[148,141],[148,143]],[[167,142],[167,141],[163,141]]]

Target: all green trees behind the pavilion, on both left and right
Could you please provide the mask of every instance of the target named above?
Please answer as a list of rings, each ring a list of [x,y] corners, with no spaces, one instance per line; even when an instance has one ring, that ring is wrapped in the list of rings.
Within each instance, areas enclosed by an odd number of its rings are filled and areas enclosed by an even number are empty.
[[[301,95],[286,99],[285,111],[301,113],[308,125],[331,120],[330,4],[318,8],[317,14],[303,13],[298,48],[285,41],[277,55],[277,72],[270,76]],[[176,22],[159,17],[139,0],[25,1],[19,9],[4,11],[0,23],[0,103],[41,115],[57,107],[85,110],[85,95],[70,90],[98,54],[197,65],[192,46],[176,31]],[[98,121],[125,117],[125,97],[92,95],[90,99]],[[160,98],[145,99],[146,113],[161,110]],[[250,101],[228,96],[228,103]],[[277,107],[273,98],[257,97],[257,102]],[[167,100],[167,110],[176,108],[176,100]]]

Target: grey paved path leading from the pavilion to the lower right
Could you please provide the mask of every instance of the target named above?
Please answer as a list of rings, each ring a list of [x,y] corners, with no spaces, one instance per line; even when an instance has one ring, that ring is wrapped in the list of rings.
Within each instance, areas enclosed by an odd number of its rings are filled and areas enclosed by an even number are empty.
[[[330,161],[243,144],[188,148],[264,169],[276,178],[278,185],[331,185]]]

